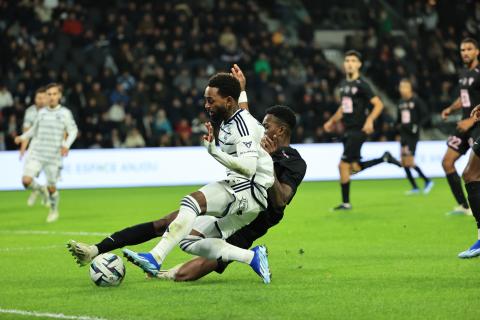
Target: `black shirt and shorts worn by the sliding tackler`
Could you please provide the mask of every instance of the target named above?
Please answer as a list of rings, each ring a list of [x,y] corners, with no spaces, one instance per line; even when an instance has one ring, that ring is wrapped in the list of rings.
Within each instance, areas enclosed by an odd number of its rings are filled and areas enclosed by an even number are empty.
[[[305,176],[307,164],[297,150],[291,147],[282,147],[272,155],[275,175],[279,182],[288,184],[293,191],[292,198]],[[252,243],[267,233],[268,229],[276,225],[283,218],[283,208],[275,208],[268,199],[267,209],[260,212],[255,220],[243,227],[227,239],[228,243],[248,249]]]

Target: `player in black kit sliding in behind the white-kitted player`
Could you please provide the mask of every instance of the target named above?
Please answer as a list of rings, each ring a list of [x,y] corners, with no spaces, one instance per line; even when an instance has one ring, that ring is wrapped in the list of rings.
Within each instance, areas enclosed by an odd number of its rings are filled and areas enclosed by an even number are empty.
[[[278,224],[283,218],[285,207],[294,197],[307,167],[298,151],[290,147],[290,136],[295,124],[295,114],[286,106],[274,106],[266,111],[263,119],[265,136],[262,139],[262,147],[272,156],[275,182],[268,190],[267,209],[260,212],[249,225],[231,235],[227,239],[228,243],[248,249],[255,240],[266,234],[268,229]],[[86,265],[99,254],[143,243],[163,235],[177,213],[175,211],[157,221],[117,231],[96,245],[87,245],[72,240],[67,247],[77,263]],[[157,277],[191,281],[212,271],[222,273],[228,264],[228,262],[198,257],[170,270],[161,270]]]

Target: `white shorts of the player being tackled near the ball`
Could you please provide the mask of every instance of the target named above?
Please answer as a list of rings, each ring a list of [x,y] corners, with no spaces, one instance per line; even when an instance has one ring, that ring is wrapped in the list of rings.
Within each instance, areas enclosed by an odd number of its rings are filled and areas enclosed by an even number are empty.
[[[207,200],[207,212],[206,216],[197,218],[193,229],[207,237],[218,238],[220,233],[221,238],[226,239],[267,207],[267,191],[247,179],[217,181],[199,191]]]

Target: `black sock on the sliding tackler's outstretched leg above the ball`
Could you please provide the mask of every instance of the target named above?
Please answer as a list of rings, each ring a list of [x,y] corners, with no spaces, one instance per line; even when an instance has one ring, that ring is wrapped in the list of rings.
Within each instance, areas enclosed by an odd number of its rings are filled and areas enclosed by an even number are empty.
[[[156,237],[157,233],[155,232],[153,222],[147,222],[117,231],[110,237],[100,241],[96,246],[98,254],[102,254],[125,246],[147,242]]]

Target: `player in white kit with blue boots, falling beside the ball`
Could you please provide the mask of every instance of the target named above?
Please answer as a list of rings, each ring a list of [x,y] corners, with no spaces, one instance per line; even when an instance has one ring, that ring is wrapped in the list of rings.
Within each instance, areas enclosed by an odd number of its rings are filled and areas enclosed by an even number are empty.
[[[226,167],[227,177],[185,196],[177,218],[152,251],[123,250],[125,257],[147,274],[156,276],[168,253],[180,244],[182,250],[194,255],[249,264],[265,283],[270,282],[265,246],[246,250],[224,240],[267,207],[267,189],[274,182],[272,158],[260,145],[264,128],[239,107],[240,93],[240,82],[231,74],[219,73],[209,80],[205,109],[213,121],[221,122],[220,149],[210,123],[206,124],[204,144]]]

